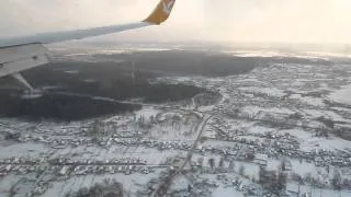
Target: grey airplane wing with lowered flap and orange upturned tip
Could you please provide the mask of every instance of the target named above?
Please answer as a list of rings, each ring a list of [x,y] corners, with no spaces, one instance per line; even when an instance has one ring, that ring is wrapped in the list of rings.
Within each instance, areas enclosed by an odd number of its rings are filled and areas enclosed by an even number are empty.
[[[160,0],[151,14],[141,22],[0,39],[0,78],[11,74],[32,90],[30,83],[21,77],[20,72],[49,62],[49,51],[43,44],[83,39],[150,25],[159,25],[169,18],[174,3],[176,0]]]

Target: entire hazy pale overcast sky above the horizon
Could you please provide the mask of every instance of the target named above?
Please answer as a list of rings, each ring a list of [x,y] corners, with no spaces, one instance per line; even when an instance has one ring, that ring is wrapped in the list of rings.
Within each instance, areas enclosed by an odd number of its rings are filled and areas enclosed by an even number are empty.
[[[0,36],[144,19],[158,0],[1,0]],[[351,0],[177,0],[163,25],[102,39],[351,43]]]

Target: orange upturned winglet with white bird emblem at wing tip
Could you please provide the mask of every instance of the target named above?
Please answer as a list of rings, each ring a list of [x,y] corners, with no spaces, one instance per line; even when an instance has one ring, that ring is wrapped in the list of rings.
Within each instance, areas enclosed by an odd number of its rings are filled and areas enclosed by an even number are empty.
[[[159,25],[163,23],[172,12],[176,0],[161,0],[154,12],[143,22]]]

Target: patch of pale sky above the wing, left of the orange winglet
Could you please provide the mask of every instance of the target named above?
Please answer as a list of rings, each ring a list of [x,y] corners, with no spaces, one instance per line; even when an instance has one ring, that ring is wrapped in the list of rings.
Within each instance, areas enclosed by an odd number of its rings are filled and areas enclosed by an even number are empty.
[[[0,35],[84,28],[137,21],[158,0],[12,0],[0,2]],[[143,15],[143,18],[141,18]],[[22,30],[19,32],[19,30]]]

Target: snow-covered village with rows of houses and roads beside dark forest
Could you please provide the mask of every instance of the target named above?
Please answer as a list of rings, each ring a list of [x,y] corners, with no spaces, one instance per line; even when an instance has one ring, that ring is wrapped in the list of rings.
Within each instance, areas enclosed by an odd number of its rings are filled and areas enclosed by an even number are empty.
[[[215,93],[125,115],[36,125],[3,118],[0,190],[71,194],[111,178],[126,196],[347,197],[351,111],[328,99],[350,82],[329,80],[346,67],[288,68],[162,78]],[[291,83],[296,69],[298,85]]]

